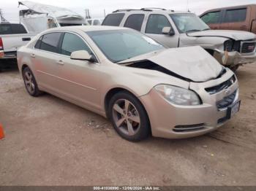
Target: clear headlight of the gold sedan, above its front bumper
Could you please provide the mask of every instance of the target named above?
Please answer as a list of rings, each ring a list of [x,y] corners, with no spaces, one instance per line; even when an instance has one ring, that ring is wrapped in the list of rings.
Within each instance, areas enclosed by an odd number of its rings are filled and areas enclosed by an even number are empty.
[[[182,106],[195,106],[201,104],[198,95],[191,90],[172,85],[157,85],[154,88],[157,90],[157,93],[173,104]]]

